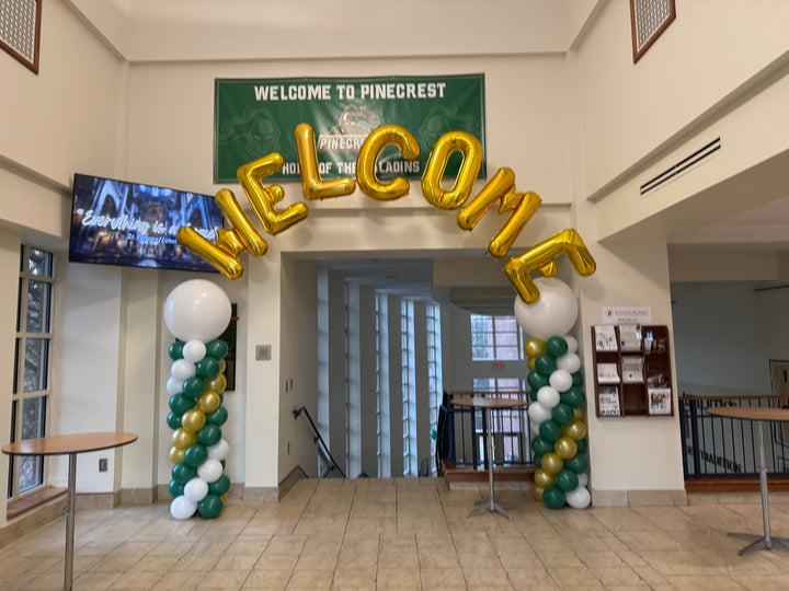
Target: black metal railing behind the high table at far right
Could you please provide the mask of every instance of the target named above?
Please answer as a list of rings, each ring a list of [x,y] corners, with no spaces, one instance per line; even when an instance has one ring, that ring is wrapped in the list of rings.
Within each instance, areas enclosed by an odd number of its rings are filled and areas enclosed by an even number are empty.
[[[779,408],[780,396],[678,397],[679,429],[685,478],[755,476],[759,472],[758,425],[752,420],[714,417],[707,408],[746,406]],[[789,474],[789,424],[764,425],[765,463],[768,474]]]

